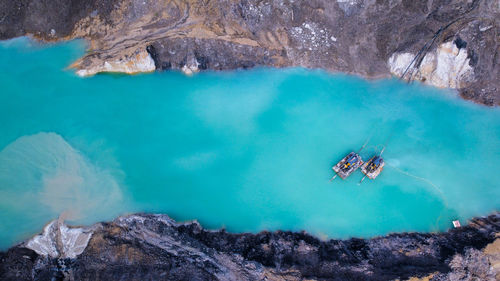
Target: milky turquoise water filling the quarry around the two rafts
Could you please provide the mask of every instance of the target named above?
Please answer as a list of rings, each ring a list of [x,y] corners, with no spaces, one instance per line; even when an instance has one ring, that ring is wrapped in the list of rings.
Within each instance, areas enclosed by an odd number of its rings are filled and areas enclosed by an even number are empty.
[[[229,231],[437,231],[500,207],[500,110],[305,69],[97,75],[82,42],[0,43],[0,247],[60,214],[147,211]],[[384,143],[374,181],[331,166]]]

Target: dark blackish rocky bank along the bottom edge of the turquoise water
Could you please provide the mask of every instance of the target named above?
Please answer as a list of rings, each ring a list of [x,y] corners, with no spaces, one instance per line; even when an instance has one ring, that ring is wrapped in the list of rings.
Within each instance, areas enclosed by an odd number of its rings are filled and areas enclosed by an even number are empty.
[[[51,222],[0,253],[0,279],[498,280],[499,243],[500,213],[445,233],[328,241],[304,232],[210,231],[137,214],[86,228]]]

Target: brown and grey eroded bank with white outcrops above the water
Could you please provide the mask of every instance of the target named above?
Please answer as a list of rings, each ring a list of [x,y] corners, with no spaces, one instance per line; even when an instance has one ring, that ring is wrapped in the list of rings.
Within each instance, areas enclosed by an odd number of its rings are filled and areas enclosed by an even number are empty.
[[[0,39],[88,39],[84,76],[303,66],[404,74],[488,105],[500,103],[499,30],[488,0],[0,0]]]

